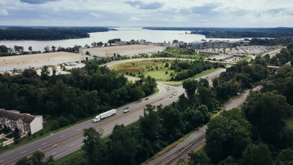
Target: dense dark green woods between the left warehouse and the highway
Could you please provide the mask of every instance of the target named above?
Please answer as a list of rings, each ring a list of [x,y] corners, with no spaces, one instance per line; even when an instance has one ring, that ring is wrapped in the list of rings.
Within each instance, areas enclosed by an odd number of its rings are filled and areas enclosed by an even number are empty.
[[[128,82],[116,71],[99,67],[100,63],[89,61],[70,75],[48,76],[47,67],[41,76],[32,69],[15,76],[0,75],[0,106],[21,113],[83,119],[154,93],[154,78]]]

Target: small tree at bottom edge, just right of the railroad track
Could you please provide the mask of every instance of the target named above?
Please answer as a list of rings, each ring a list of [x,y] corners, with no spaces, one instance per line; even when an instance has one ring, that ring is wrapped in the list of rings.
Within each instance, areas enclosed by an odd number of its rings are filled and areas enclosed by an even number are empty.
[[[211,159],[207,156],[206,153],[201,150],[191,151],[188,153],[190,156],[190,165],[210,165]]]

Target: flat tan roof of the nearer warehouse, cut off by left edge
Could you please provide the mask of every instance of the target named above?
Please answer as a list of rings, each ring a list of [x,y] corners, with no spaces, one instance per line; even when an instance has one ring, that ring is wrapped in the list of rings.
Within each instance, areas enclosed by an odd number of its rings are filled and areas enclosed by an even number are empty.
[[[81,54],[68,53],[68,52],[53,52],[53,53],[39,53],[27,54],[18,56],[5,56],[0,57],[0,67],[13,66],[17,64],[33,64],[48,61],[70,60],[79,58]],[[7,62],[7,63],[6,63]]]

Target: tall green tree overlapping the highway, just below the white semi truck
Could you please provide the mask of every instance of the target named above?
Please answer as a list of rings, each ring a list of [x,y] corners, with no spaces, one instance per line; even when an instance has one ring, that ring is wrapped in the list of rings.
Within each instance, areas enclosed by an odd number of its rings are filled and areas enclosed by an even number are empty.
[[[102,139],[104,130],[99,129],[97,131],[94,128],[84,129],[83,139],[84,145],[82,150],[85,151],[85,155],[89,164],[103,164],[106,157],[103,156],[104,141]]]

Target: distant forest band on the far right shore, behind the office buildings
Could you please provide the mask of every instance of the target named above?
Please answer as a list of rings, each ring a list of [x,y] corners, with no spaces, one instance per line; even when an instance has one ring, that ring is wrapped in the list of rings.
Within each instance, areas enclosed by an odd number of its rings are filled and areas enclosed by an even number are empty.
[[[191,34],[205,35],[206,38],[276,38],[276,37],[292,37],[293,28],[282,29],[280,31],[191,31]]]

